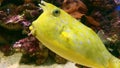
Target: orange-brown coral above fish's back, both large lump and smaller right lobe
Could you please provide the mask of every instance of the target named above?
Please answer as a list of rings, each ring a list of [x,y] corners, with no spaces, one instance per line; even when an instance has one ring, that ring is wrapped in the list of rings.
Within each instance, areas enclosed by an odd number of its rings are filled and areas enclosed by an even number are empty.
[[[87,26],[93,29],[98,29],[100,24],[91,16],[87,16],[87,6],[81,0],[64,0],[62,3],[62,9],[69,13],[76,19],[82,19],[81,21]],[[85,17],[85,19],[84,19]]]

